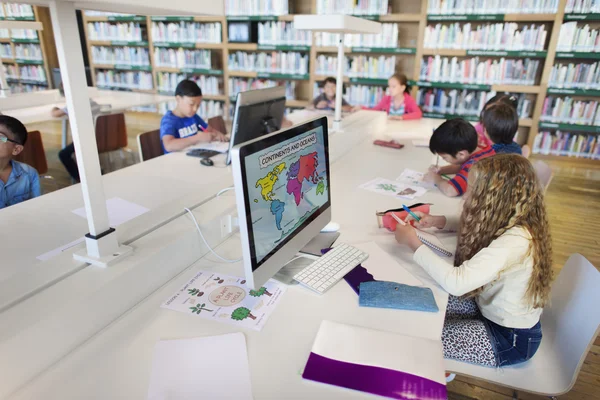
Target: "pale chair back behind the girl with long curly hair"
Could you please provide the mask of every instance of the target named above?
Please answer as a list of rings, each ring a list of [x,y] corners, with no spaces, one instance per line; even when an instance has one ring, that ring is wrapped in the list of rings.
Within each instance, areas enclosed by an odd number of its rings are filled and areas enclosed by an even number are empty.
[[[579,370],[600,333],[600,271],[573,254],[552,285],[551,303],[542,314],[542,332],[553,333],[562,375],[575,384]],[[543,342],[543,340],[542,340]]]

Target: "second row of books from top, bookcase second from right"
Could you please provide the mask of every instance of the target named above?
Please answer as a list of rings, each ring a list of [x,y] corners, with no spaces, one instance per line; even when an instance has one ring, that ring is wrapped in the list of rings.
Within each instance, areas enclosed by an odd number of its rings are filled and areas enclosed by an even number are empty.
[[[547,35],[543,24],[519,27],[516,22],[484,25],[456,22],[428,25],[423,44],[427,49],[542,51]]]

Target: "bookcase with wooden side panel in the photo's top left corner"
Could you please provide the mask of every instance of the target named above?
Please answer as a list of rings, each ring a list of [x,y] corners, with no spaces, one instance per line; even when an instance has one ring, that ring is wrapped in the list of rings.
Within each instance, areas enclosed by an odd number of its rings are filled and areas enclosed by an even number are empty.
[[[13,93],[52,88],[52,68],[58,67],[54,35],[47,7],[0,3],[2,21],[37,21],[43,30],[0,29],[2,64]]]

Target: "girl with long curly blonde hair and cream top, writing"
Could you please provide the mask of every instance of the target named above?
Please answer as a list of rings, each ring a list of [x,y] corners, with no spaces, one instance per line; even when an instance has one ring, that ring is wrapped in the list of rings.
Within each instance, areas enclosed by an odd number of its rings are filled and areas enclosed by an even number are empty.
[[[542,340],[550,296],[552,245],[542,188],[531,163],[515,154],[478,161],[469,173],[459,220],[420,214],[419,228],[456,230],[454,263],[398,225],[396,240],[451,296],[444,356],[506,366],[529,360]]]

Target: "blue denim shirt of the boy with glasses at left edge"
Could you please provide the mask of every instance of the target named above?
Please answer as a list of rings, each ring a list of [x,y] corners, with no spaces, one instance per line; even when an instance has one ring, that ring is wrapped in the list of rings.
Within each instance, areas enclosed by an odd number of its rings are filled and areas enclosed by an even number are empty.
[[[38,197],[40,177],[37,171],[27,164],[10,161],[13,170],[6,183],[0,180],[0,208],[8,207],[25,200]]]

